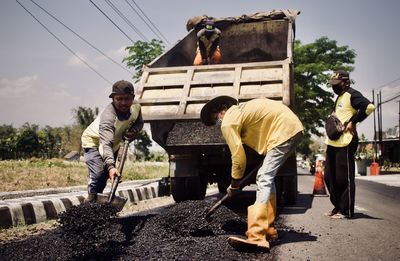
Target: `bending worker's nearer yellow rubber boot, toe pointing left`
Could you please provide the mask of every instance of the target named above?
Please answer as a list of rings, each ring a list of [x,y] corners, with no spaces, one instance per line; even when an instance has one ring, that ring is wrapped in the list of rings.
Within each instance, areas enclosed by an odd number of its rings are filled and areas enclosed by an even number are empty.
[[[269,251],[268,205],[254,204],[247,208],[247,239],[229,237],[228,243],[239,251]]]

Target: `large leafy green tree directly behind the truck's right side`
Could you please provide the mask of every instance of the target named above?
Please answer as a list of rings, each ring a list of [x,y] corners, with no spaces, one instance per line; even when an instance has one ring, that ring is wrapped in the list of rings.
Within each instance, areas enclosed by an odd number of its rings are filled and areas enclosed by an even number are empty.
[[[303,45],[294,43],[294,90],[295,111],[302,121],[305,136],[298,151],[309,155],[311,136],[322,136],[320,128],[331,113],[333,93],[325,90],[330,73],[344,69],[353,71],[356,53],[348,46],[338,46],[335,40],[321,37],[315,42]]]

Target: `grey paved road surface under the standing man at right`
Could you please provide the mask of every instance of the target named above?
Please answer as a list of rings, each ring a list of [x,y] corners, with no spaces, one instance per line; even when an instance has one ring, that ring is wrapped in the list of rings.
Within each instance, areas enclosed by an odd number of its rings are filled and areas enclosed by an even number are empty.
[[[353,219],[334,220],[327,196],[312,196],[314,176],[299,175],[295,206],[281,208],[277,260],[399,260],[400,187],[356,179]]]

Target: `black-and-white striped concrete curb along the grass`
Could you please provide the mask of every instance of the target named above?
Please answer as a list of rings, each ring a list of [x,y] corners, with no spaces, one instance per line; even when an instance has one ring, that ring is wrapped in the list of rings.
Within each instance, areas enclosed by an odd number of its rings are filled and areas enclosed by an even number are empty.
[[[138,184],[124,186],[119,188],[116,194],[126,197],[127,202],[133,204],[163,196],[159,192],[158,182],[145,186]],[[0,200],[0,228],[30,225],[57,219],[59,213],[81,204],[86,196],[86,191],[78,191]]]

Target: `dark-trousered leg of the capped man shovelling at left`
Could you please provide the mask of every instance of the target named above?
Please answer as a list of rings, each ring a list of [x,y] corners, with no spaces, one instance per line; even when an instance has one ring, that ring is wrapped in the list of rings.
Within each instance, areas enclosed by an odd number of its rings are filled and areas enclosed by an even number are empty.
[[[104,164],[103,158],[96,148],[86,148],[84,158],[89,169],[89,194],[102,193],[108,179],[108,170]]]

